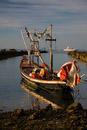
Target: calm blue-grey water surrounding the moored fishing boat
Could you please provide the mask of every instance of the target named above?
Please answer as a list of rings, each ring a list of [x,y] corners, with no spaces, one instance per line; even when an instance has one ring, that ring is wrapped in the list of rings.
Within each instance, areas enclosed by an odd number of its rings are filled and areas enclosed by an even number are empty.
[[[45,62],[49,64],[49,54],[42,54]],[[21,75],[19,64],[21,56],[9,58],[0,61],[0,111],[10,111],[17,108],[32,108],[32,103],[36,97],[21,87]],[[72,59],[64,52],[54,53],[54,69],[59,70],[61,65]],[[81,75],[86,74],[87,79],[87,64],[80,63]],[[84,78],[83,78],[84,79]],[[87,83],[80,83],[79,93],[74,92],[75,101],[80,102],[83,108],[87,108]],[[46,101],[40,101],[40,107],[45,107],[48,104]]]

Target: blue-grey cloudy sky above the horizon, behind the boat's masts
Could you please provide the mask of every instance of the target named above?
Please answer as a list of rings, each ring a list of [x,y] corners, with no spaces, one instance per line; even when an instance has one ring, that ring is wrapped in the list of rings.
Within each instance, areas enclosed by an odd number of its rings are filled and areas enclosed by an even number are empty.
[[[25,49],[20,28],[42,32],[50,24],[56,49],[87,49],[87,0],[0,0],[1,49]]]

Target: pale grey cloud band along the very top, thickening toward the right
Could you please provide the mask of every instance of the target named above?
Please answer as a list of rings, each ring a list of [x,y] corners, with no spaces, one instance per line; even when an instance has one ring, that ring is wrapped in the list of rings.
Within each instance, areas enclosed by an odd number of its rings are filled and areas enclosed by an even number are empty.
[[[87,2],[86,0],[9,0],[10,2],[15,3],[28,3],[30,5],[38,5],[39,7],[45,6],[48,8],[56,8],[61,11],[87,11]]]

